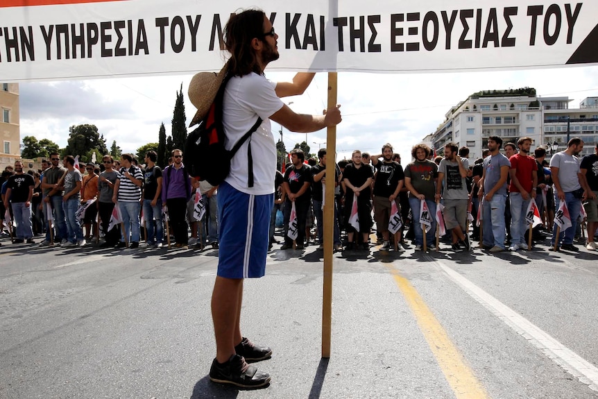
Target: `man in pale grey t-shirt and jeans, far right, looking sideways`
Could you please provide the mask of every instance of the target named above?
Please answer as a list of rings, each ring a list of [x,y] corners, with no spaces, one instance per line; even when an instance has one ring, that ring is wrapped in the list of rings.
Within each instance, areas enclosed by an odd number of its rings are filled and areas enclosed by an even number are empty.
[[[558,251],[559,248],[565,251],[578,251],[577,247],[573,245],[577,217],[581,210],[581,201],[588,198],[586,180],[581,175],[579,158],[577,158],[581,150],[583,150],[583,141],[579,137],[574,137],[567,143],[565,151],[558,152],[550,158],[555,207],[562,211],[561,202],[565,202],[571,220],[571,226],[567,228],[563,226],[557,237],[557,230],[561,228],[557,216],[560,216],[561,212],[556,212],[550,240],[551,251]]]

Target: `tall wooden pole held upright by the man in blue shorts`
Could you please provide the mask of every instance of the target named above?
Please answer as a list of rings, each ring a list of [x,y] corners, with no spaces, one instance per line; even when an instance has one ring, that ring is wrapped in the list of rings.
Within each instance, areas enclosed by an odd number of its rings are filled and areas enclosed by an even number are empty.
[[[336,72],[328,73],[328,105],[336,107]],[[332,266],[334,251],[334,176],[336,175],[336,126],[327,128],[326,135],[326,192],[324,199],[324,282],[322,298],[322,357],[330,357],[332,337]]]

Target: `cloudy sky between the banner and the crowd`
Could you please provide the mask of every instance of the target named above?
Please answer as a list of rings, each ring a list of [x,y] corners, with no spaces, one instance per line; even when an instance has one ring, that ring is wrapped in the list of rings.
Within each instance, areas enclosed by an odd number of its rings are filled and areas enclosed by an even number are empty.
[[[268,72],[271,80],[290,80],[293,74]],[[69,126],[95,124],[108,145],[116,140],[123,152],[158,141],[164,122],[171,132],[176,92],[185,93],[187,123],[195,109],[187,98],[191,76],[73,80],[22,83],[21,137],[51,139],[67,145]],[[390,142],[395,151],[409,153],[459,101],[480,90],[535,87],[540,96],[569,96],[570,108],[582,99],[598,96],[598,67],[568,67],[524,71],[469,72],[453,74],[354,74],[339,73],[338,99],[343,122],[336,131],[337,160],[350,157],[354,149],[379,152]],[[285,102],[296,112],[319,114],[325,108],[327,74],[317,74],[303,96]],[[280,126],[273,123],[273,130]],[[305,133],[283,130],[287,149],[305,140]],[[280,135],[277,135],[280,138]],[[307,135],[311,152],[325,146],[326,131]]]

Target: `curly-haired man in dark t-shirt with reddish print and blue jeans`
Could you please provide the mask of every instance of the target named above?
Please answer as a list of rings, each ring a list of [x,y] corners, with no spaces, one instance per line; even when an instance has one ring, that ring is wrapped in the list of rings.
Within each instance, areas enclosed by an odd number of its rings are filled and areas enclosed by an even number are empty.
[[[417,144],[411,149],[411,156],[415,161],[409,163],[405,168],[405,186],[409,189],[409,205],[413,212],[413,232],[415,233],[416,251],[422,251],[424,244],[424,235],[421,226],[422,208],[427,209],[426,217],[429,217],[426,228],[427,249],[436,251],[434,244],[434,231],[436,230],[436,221],[433,214],[436,213],[436,180],[438,180],[438,165],[428,160],[432,149],[426,144]],[[422,206],[425,201],[425,207]]]

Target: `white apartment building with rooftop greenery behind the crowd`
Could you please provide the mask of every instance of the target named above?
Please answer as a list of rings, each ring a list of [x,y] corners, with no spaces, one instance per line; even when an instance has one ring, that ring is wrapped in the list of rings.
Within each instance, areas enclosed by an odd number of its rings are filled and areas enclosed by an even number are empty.
[[[519,137],[533,140],[531,149],[545,146],[549,153],[562,151],[569,137],[581,137],[583,153],[593,153],[598,142],[598,97],[588,97],[570,109],[568,97],[538,97],[536,90],[493,90],[472,94],[451,108],[432,133],[438,154],[448,142],[470,148],[470,160],[481,158],[488,137],[499,136],[503,145]],[[555,145],[556,144],[556,145]]]

